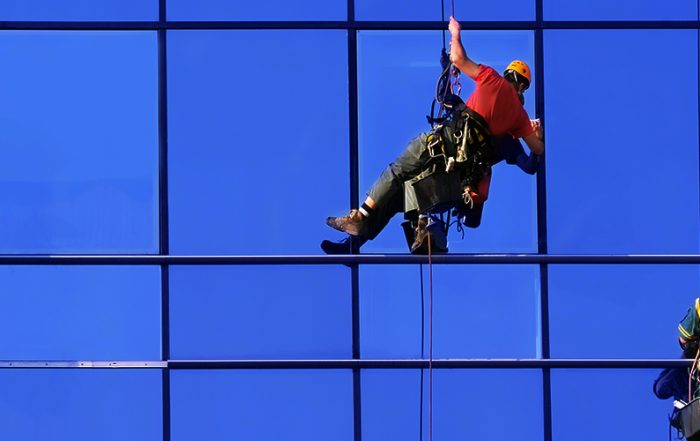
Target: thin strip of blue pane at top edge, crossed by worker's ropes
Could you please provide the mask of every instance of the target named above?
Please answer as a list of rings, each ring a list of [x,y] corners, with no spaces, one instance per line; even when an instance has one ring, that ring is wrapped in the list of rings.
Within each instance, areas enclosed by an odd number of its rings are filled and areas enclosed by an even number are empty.
[[[441,2],[422,0],[355,0],[355,18],[358,20],[386,21],[436,21],[448,20],[452,14],[452,3],[442,2],[445,6],[442,14]],[[470,2],[455,0],[454,15],[457,20],[465,21],[507,21],[534,20],[534,0],[499,2]]]

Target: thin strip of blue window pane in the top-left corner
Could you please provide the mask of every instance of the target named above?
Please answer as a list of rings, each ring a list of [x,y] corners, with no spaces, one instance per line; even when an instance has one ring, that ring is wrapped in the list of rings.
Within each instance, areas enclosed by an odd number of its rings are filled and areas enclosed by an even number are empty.
[[[3,0],[0,21],[158,20],[158,0]]]

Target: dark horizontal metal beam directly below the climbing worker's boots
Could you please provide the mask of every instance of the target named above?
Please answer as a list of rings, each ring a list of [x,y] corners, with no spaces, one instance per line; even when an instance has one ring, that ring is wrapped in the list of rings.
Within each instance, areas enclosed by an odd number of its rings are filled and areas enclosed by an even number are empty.
[[[434,264],[700,264],[697,254],[568,255],[441,254]],[[426,264],[428,256],[411,254],[165,256],[165,255],[1,255],[0,265],[376,265]]]

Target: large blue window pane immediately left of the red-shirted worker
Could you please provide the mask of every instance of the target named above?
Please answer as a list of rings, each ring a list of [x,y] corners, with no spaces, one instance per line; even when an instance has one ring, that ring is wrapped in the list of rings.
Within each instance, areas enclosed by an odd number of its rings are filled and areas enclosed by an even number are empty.
[[[345,32],[168,35],[171,252],[319,253],[349,194]]]

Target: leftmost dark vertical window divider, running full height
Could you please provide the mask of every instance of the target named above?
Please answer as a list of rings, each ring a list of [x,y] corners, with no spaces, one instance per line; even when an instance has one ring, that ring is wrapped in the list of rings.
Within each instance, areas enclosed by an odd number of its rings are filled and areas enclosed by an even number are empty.
[[[167,0],[158,0],[158,235],[159,254],[170,254],[168,220]],[[170,268],[160,265],[163,441],[170,441]]]

